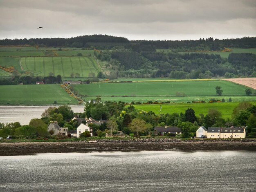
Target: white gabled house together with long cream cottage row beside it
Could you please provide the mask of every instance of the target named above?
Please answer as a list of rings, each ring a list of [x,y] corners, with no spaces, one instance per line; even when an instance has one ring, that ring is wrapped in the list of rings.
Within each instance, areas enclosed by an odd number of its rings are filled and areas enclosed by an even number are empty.
[[[208,127],[201,126],[196,131],[196,137],[206,138],[245,138],[244,127]]]

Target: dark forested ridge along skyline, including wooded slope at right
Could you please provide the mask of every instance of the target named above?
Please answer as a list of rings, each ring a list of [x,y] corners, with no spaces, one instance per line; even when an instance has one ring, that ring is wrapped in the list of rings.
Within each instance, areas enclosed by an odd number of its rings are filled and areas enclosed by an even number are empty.
[[[106,68],[111,69],[111,73],[106,74],[106,78],[110,79],[256,77],[255,54],[230,53],[228,58],[223,58],[216,53],[231,51],[232,48],[256,48],[256,37],[131,41],[124,37],[85,35],[72,38],[4,39],[0,40],[0,45],[94,49],[94,56],[106,62]]]

